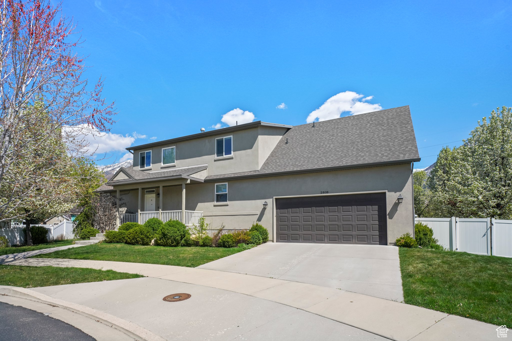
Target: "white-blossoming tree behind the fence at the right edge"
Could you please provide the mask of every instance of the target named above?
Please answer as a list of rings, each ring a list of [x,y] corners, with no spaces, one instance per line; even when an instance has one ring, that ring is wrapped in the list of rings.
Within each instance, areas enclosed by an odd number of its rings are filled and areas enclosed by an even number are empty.
[[[443,148],[431,173],[443,216],[512,218],[512,108],[493,110],[458,148]]]

